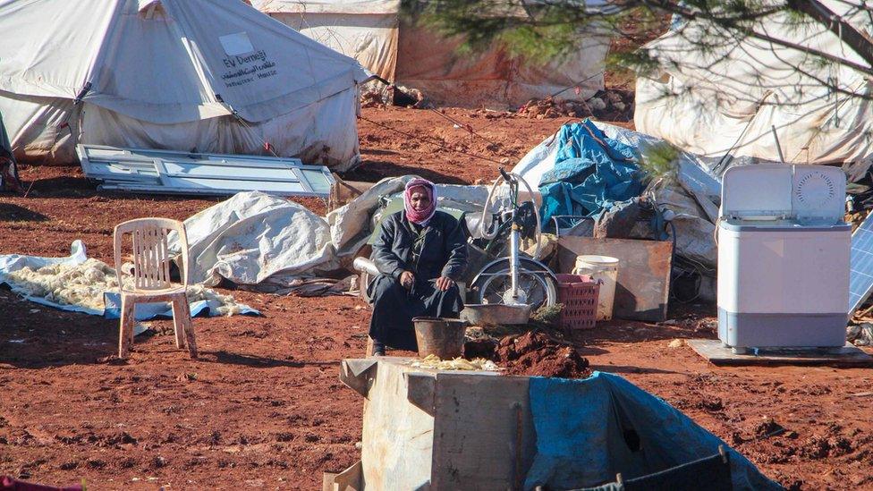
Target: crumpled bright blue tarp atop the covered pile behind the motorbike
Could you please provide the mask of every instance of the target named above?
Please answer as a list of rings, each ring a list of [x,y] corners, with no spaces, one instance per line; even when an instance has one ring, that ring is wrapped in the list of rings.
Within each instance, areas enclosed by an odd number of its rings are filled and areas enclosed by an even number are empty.
[[[557,138],[555,167],[539,182],[543,224],[555,215],[596,216],[640,196],[645,174],[634,148],[607,138],[590,120],[565,124]]]

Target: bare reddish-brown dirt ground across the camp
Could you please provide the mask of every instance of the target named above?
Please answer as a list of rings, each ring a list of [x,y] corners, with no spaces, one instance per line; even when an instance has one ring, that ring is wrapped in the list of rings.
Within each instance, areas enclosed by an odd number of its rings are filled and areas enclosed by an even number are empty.
[[[346,177],[490,179],[501,158],[513,165],[564,123],[446,114],[487,141],[430,111],[365,109],[417,140],[362,121],[365,163]],[[497,163],[437,150],[425,137]],[[28,198],[0,198],[0,254],[63,256],[82,239],[109,261],[114,224],[183,219],[217,201],[98,194],[75,168],[21,174],[35,183]],[[90,489],[317,489],[323,471],[351,465],[362,400],[337,374],[339,360],[362,355],[369,310],[351,297],[231,293],[264,317],[195,319],[200,360],[175,350],[171,323],[157,321],[159,334],[140,336],[131,360],[117,363],[100,361],[116,349],[116,322],[0,290],[0,474],[53,485],[84,478]],[[873,488],[873,369],[716,368],[686,346],[668,347],[715,337],[712,310],[692,307],[674,326],[602,324],[581,335],[580,354],[664,398],[785,486]]]

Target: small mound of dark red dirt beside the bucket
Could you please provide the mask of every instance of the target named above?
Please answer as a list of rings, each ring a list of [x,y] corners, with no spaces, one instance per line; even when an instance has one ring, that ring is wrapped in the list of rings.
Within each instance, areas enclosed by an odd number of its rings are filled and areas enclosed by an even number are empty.
[[[581,378],[591,373],[588,360],[575,348],[538,331],[504,337],[497,345],[496,359],[507,375]]]

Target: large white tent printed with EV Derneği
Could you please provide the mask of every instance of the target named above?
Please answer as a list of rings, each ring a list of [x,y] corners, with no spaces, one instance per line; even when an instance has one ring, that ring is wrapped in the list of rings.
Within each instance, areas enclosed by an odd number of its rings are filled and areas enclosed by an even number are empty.
[[[367,73],[239,0],[0,0],[0,113],[17,157],[77,143],[360,160]]]

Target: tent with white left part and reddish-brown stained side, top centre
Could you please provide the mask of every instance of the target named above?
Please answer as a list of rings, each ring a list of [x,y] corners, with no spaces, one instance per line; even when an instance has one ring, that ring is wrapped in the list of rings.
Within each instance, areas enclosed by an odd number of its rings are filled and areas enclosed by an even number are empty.
[[[587,4],[597,4],[589,0]],[[582,47],[544,66],[521,64],[503,48],[458,55],[458,43],[401,19],[401,0],[252,0],[261,12],[357,59],[383,79],[457,106],[520,106],[564,89],[570,98],[604,88],[608,38],[582,31]]]

